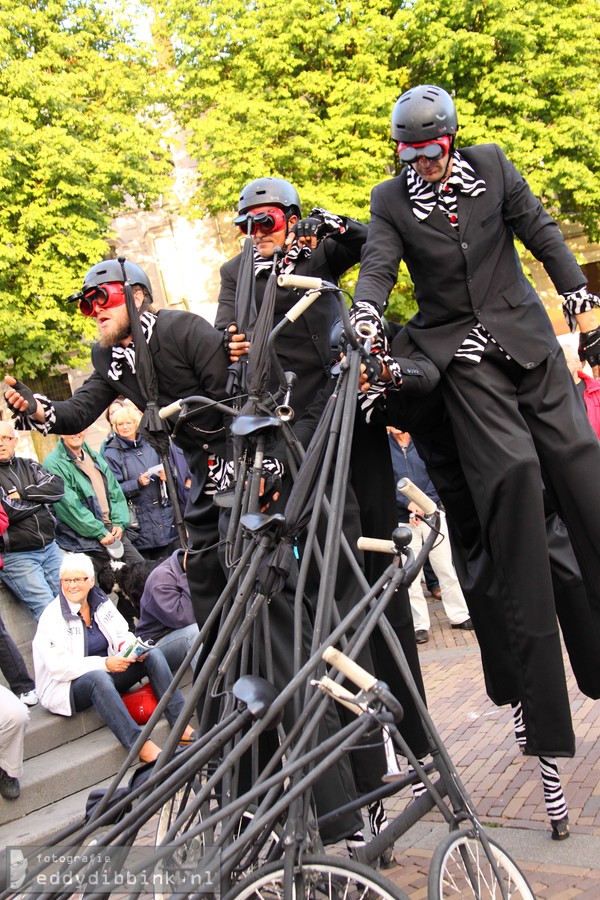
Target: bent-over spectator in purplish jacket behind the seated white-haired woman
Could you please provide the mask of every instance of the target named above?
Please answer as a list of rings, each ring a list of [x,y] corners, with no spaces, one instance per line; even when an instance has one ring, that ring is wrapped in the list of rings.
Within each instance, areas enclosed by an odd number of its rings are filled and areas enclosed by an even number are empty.
[[[187,550],[176,550],[151,570],[144,571],[142,563],[133,563],[119,572],[120,587],[134,602],[139,602],[135,633],[160,647],[173,672],[180,667],[199,633],[186,564]],[[193,671],[199,655],[200,648],[191,661]]]

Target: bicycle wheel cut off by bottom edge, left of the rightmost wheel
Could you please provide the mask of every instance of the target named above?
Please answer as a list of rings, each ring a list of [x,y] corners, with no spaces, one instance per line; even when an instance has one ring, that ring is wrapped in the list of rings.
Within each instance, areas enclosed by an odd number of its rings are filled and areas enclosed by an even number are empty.
[[[309,856],[294,872],[294,887],[286,900],[407,900],[399,888],[352,859],[335,856]],[[283,866],[271,863],[255,875],[245,878],[228,894],[226,900],[282,900],[284,897]]]

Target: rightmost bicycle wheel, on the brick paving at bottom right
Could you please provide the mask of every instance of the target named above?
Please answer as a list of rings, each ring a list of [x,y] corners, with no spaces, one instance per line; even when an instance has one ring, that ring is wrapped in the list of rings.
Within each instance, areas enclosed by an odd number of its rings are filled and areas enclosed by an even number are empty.
[[[535,900],[527,879],[511,856],[488,837],[494,862],[509,898]],[[452,831],[435,848],[429,867],[428,897],[502,897],[500,882],[485,848],[473,831]]]

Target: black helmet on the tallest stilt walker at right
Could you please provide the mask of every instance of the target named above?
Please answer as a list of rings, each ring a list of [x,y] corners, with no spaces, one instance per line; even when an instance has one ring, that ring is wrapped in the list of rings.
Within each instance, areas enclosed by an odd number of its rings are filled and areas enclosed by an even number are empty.
[[[454,136],[458,119],[454,100],[443,88],[420,84],[405,91],[392,110],[392,140],[406,144]]]

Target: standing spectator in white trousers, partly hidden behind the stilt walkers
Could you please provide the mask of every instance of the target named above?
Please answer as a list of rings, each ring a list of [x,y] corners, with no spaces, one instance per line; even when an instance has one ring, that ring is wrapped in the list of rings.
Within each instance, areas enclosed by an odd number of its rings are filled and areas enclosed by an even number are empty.
[[[406,431],[400,431],[398,428],[388,427],[388,436],[396,482],[401,478],[410,478],[418,488],[421,488],[439,506],[440,498],[431,483],[425,463],[410,439],[410,434]],[[422,522],[420,518],[424,514],[423,510],[420,509],[417,503],[410,500],[400,491],[396,492],[396,505],[398,507],[398,521],[408,522],[411,526],[413,538],[410,542],[410,547],[416,555],[429,534],[429,526]],[[448,526],[446,525],[443,510],[441,511],[440,519],[440,538],[429,553],[429,561],[440,580],[442,604],[446,615],[450,619],[451,627],[462,631],[472,631],[473,623],[469,617],[467,603],[454,571]],[[417,644],[425,644],[429,640],[431,621],[419,578],[416,578],[410,585],[408,595],[413,614],[415,639]]]

